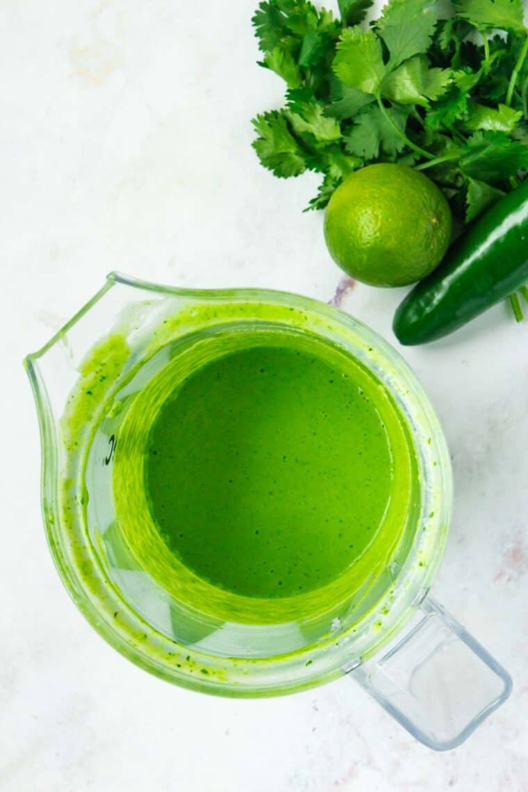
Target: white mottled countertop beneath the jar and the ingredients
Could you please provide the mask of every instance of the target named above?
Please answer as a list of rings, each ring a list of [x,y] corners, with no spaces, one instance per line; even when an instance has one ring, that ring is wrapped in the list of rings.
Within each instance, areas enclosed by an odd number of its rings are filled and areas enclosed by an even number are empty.
[[[514,678],[461,748],[417,744],[342,680],[283,699],[211,699],[124,661],[55,573],[21,359],[120,269],[329,301],[341,274],[302,214],[317,177],[279,181],[250,118],[282,84],[255,65],[250,0],[6,0],[0,7],[3,288],[2,792],[528,790],[528,318],[504,306],[405,349],[453,456],[454,524],[435,594]],[[401,291],[342,307],[393,344]]]

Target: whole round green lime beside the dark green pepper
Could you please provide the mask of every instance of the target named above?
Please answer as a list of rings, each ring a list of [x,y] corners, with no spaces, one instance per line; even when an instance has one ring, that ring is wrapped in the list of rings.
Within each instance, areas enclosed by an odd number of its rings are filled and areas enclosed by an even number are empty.
[[[417,170],[380,163],[355,171],[333,193],[325,215],[330,255],[373,286],[406,286],[440,261],[451,238],[443,193]]]

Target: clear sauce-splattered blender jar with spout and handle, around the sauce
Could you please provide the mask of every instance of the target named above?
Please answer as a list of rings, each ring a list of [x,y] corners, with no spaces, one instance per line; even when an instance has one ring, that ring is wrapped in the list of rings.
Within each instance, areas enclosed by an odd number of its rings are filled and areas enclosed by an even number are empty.
[[[237,600],[223,611],[193,604],[184,576],[169,584],[139,558],[121,530],[114,466],[131,405],[154,378],[180,361],[192,367],[196,351],[214,349],[220,334],[235,348],[266,328],[321,338],[373,372],[405,417],[419,483],[405,539],[367,586],[322,614],[284,611],[252,623]],[[450,527],[446,440],[412,371],[372,330],[296,295],[192,291],[112,273],[25,366],[40,421],[51,554],[79,610],[129,660],[226,696],[280,695],[348,676],[436,750],[461,744],[507,699],[507,672],[429,594]]]

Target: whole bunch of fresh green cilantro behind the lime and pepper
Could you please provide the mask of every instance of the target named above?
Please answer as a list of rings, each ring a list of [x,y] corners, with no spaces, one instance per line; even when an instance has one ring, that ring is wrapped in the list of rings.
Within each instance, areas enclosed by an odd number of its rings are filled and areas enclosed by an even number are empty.
[[[400,162],[427,172],[467,223],[528,169],[528,31],[521,0],[264,0],[260,66],[286,82],[282,109],[253,120],[275,176],[323,174],[324,208],[353,170]],[[446,17],[446,18],[443,18]]]

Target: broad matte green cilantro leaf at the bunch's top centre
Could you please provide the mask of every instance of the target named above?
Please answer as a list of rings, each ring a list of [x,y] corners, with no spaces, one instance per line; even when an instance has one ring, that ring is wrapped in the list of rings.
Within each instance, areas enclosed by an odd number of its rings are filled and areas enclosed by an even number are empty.
[[[435,32],[433,0],[391,0],[378,21],[378,32],[389,49],[389,67],[427,52]]]

